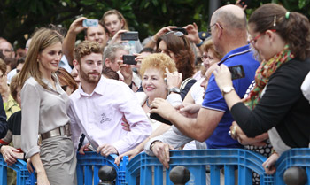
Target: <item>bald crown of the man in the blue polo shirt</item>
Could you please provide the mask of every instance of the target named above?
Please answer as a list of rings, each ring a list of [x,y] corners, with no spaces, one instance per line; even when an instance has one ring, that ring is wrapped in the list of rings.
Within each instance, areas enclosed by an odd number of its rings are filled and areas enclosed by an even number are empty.
[[[236,34],[236,31],[246,32],[246,17],[244,11],[236,5],[225,5],[213,13],[211,24],[220,22],[229,34]]]

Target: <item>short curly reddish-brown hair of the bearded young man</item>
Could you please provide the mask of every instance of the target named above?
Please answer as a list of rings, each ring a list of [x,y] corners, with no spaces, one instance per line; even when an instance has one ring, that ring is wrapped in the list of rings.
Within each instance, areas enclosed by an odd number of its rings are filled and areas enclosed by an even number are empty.
[[[74,48],[74,59],[81,64],[81,58],[91,53],[103,53],[98,42],[83,41]]]

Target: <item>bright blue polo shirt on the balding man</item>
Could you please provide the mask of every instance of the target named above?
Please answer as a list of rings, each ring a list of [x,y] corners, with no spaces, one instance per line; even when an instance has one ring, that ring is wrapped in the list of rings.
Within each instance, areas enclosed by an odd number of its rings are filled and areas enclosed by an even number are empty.
[[[242,65],[244,67],[245,77],[233,81],[233,86],[240,98],[244,97],[246,89],[254,80],[256,69],[260,63],[253,58],[253,52],[250,45],[231,50],[224,58],[221,59],[219,65],[226,66]],[[214,75],[212,74],[205,91],[205,99],[202,106],[206,109],[224,112],[219,125],[213,131],[213,134],[205,141],[208,149],[221,148],[244,148],[243,145],[232,139],[229,135],[229,127],[234,121],[230,115],[229,108],[225,99],[221,95],[221,91],[216,84]]]

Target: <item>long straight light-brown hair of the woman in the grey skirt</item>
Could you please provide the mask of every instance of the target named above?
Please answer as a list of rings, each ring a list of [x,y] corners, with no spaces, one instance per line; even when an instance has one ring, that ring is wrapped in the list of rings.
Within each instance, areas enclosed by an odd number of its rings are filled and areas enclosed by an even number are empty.
[[[19,87],[23,87],[25,81],[32,76],[44,89],[47,89],[47,85],[42,81],[42,73],[39,70],[37,57],[44,49],[57,42],[62,42],[62,40],[63,37],[50,28],[43,27],[35,32],[27,52],[25,64],[19,74]]]

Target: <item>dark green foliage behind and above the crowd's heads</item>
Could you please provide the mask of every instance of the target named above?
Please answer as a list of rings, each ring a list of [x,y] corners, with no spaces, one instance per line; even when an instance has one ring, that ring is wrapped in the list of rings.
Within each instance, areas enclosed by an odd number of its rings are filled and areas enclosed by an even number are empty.
[[[209,0],[211,1],[211,0]],[[25,35],[35,27],[50,23],[68,28],[79,16],[101,19],[104,12],[117,9],[128,20],[131,30],[139,31],[140,39],[155,34],[161,27],[183,27],[196,22],[199,30],[209,25],[209,1],[200,0],[1,0],[0,36],[23,47]],[[215,0],[214,0],[215,1]],[[220,1],[220,0],[218,0]],[[235,4],[236,0],[221,0],[221,5]],[[245,11],[247,16],[261,4],[283,4],[293,12],[310,15],[310,0],[252,0]],[[79,35],[82,39],[83,35]]]

